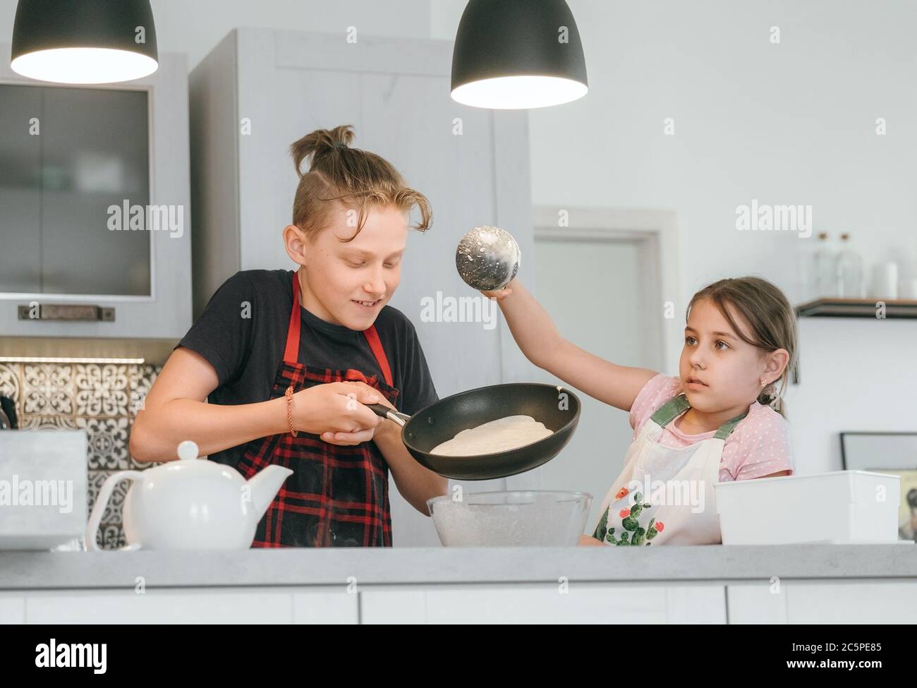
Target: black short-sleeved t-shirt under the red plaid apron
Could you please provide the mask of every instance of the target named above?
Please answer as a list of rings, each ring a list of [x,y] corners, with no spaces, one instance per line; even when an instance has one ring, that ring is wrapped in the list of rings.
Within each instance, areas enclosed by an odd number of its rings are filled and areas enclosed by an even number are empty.
[[[226,280],[188,333],[176,345],[196,351],[216,371],[219,385],[210,404],[252,404],[271,398],[271,389],[286,345],[293,308],[293,271],[243,270]],[[334,325],[300,306],[303,316],[299,362],[314,368],[354,368],[384,377],[362,332]],[[376,317],[376,331],[399,390],[395,406],[414,415],[438,400],[414,325],[390,305]],[[235,467],[246,445],[210,455]]]

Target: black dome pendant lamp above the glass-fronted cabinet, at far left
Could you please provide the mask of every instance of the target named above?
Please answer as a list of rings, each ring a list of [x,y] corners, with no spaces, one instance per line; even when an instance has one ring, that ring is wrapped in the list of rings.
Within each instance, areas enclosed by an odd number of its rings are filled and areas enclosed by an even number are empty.
[[[14,72],[41,81],[111,83],[158,66],[149,0],[19,0]]]

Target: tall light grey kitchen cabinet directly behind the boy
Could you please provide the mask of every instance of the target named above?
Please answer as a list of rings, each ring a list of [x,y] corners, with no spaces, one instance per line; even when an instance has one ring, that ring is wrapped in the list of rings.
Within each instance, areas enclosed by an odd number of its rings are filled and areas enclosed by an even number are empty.
[[[470,228],[497,225],[520,244],[532,283],[534,239],[525,111],[458,105],[449,96],[452,44],[359,34],[238,28],[190,76],[194,311],[238,270],[295,269],[282,244],[298,176],[290,144],[316,128],[353,125],[371,150],[425,194],[433,227],[412,231],[391,305],[417,328],[440,397],[530,381],[494,302],[458,277],[455,250]],[[425,322],[422,300],[458,297],[490,322]],[[475,483],[499,490],[505,481]],[[438,545],[432,523],[392,485],[394,545]]]

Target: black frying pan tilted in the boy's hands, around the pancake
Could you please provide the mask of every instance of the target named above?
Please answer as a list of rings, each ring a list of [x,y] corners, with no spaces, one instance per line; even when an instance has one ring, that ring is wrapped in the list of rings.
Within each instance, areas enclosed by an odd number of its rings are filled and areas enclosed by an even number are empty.
[[[460,392],[425,406],[414,416],[383,404],[367,404],[378,416],[402,426],[404,446],[418,463],[456,480],[505,478],[537,468],[558,455],[580,422],[580,399],[565,387],[542,383],[494,384]],[[518,449],[475,456],[440,456],[430,449],[462,430],[505,416],[532,416],[553,430]]]

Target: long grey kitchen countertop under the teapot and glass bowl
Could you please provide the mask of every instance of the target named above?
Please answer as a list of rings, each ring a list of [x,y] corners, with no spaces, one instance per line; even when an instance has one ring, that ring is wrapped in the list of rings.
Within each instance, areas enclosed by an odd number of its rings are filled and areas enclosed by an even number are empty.
[[[917,580],[917,547],[338,548],[0,552],[0,590],[360,584]]]

